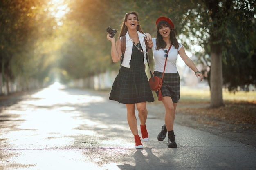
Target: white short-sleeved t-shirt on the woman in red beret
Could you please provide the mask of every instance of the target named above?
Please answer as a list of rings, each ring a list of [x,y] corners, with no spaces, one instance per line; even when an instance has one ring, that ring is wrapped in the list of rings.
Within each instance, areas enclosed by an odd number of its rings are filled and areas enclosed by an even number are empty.
[[[164,55],[164,49],[159,49],[156,50],[156,39],[152,38],[153,41],[153,58],[155,60],[155,71],[163,72],[164,71],[164,63],[165,63],[165,57]],[[178,69],[176,66],[177,62],[177,57],[178,57],[178,51],[181,49],[182,44],[179,43],[179,48],[175,49],[174,46],[171,47],[168,57],[167,57],[167,62],[166,62],[166,67],[164,73],[177,73]],[[168,49],[166,49],[168,50]]]

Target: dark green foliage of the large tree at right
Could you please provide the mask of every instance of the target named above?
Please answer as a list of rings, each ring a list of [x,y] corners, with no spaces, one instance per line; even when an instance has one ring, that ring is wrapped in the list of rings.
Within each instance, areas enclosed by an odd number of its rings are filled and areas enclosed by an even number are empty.
[[[211,67],[211,58],[207,56],[214,51],[220,53],[223,83],[229,91],[236,91],[238,86],[256,85],[253,71],[256,64],[253,58],[256,50],[255,1],[193,0],[193,3],[180,25],[182,34],[192,40],[189,44],[199,44],[204,49],[204,53],[196,54],[199,60]],[[216,48],[210,48],[210,44]],[[243,71],[245,68],[247,71]],[[233,70],[239,73],[233,74]]]

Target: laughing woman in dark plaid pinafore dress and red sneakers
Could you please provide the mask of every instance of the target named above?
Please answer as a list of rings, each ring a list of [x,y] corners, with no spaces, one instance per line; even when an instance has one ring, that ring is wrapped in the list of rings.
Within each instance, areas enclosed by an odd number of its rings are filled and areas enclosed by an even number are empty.
[[[124,55],[121,51],[121,36],[126,37],[126,51]],[[147,42],[144,41],[144,33],[139,24],[139,17],[136,12],[126,13],[121,27],[121,32],[117,42],[111,38],[111,57],[113,62],[119,62],[123,57],[119,74],[115,78],[111,92],[110,100],[126,104],[127,121],[134,135],[135,148],[143,148],[141,139],[138,135],[137,118],[135,115],[135,104],[138,110],[140,121],[140,130],[144,142],[149,140],[146,130],[146,119],[148,111],[146,102],[153,102],[153,94],[150,89],[148,78],[145,73],[146,64],[146,44],[151,48],[153,42],[151,36],[147,34]]]

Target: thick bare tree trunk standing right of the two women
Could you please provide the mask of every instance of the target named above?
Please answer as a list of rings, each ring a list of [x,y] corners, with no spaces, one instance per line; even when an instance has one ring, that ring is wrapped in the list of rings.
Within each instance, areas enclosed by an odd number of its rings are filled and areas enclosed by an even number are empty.
[[[222,57],[220,47],[211,44],[211,108],[224,105],[222,96]]]

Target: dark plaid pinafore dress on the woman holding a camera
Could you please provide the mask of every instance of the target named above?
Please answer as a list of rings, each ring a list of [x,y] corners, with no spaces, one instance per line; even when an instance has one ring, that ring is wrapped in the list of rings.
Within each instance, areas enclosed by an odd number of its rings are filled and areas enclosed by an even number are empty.
[[[141,44],[138,45],[142,49]],[[135,45],[132,47],[130,68],[121,66],[113,83],[109,99],[124,104],[154,101],[145,73],[143,53]]]

